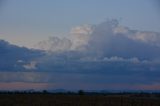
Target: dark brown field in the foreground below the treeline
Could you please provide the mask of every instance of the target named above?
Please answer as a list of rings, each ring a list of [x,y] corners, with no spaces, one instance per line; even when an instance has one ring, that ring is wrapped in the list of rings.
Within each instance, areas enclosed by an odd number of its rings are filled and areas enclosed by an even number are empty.
[[[0,94],[0,106],[160,106],[152,95]]]

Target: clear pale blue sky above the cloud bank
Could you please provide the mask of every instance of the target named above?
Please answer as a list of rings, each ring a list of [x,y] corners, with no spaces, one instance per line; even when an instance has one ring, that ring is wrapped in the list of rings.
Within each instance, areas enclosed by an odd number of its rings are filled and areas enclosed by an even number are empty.
[[[71,28],[118,19],[132,29],[157,31],[157,0],[4,0],[1,2],[1,38],[33,47],[49,36],[66,36]],[[34,38],[34,39],[33,39]]]

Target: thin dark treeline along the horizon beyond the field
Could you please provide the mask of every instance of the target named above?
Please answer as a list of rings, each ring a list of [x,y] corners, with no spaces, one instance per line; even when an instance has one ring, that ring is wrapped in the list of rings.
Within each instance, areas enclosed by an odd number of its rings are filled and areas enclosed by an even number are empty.
[[[111,96],[130,96],[130,97],[158,97],[160,98],[160,92],[88,92],[84,90],[79,90],[77,92],[73,91],[35,91],[35,90],[25,90],[25,91],[0,91],[0,94],[55,94],[55,95],[111,95]]]

